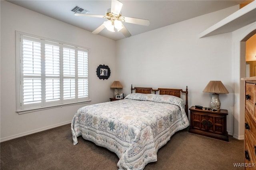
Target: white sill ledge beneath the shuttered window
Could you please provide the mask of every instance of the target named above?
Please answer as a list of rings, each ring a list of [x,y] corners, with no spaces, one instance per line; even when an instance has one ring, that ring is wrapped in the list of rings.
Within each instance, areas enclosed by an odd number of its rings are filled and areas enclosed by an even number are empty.
[[[37,108],[37,109],[21,109],[21,110],[17,110],[16,112],[18,113],[18,115],[22,115],[22,114],[25,114],[25,113],[37,112],[37,111],[42,111],[42,110],[47,110],[47,109],[54,109],[54,108],[57,108],[57,107],[82,105],[82,104],[86,104],[86,103],[90,103],[90,102],[91,102],[91,100],[83,101],[83,102],[77,102],[77,103],[69,103],[69,104],[50,106],[50,107],[41,107],[41,108]]]

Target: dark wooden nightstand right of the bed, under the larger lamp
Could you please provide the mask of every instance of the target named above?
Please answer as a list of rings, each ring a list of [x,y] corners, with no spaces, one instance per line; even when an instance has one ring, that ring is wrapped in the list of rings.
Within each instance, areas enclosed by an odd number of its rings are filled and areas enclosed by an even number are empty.
[[[208,136],[228,142],[228,132],[226,130],[226,116],[228,111],[211,111],[203,107],[197,109],[190,107],[190,129],[188,132]]]

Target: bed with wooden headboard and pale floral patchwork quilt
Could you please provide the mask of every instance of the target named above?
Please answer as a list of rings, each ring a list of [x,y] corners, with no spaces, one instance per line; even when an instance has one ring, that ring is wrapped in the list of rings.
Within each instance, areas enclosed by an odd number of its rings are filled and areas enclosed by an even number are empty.
[[[142,170],[157,161],[158,149],[175,132],[188,127],[187,115],[188,88],[131,87],[122,100],[78,109],[71,123],[73,143],[82,136],[116,153],[120,170]]]

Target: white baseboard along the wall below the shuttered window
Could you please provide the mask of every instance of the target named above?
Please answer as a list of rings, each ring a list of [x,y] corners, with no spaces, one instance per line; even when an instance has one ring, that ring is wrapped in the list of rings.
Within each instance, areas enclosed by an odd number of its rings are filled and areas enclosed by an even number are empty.
[[[0,138],[0,142],[4,142],[4,141],[7,141],[7,140],[19,138],[19,137],[26,136],[26,135],[33,134],[33,133],[37,133],[37,132],[42,132],[44,130],[60,127],[60,126],[67,125],[67,124],[70,124],[70,123],[71,123],[71,121],[66,121],[66,122],[58,123],[58,124],[51,125],[51,126],[48,126],[48,127],[38,128],[38,129],[35,129],[35,130],[30,130],[28,132],[23,132],[23,133],[15,134],[15,135],[12,135],[12,136],[7,136],[7,137],[4,137],[4,138]]]

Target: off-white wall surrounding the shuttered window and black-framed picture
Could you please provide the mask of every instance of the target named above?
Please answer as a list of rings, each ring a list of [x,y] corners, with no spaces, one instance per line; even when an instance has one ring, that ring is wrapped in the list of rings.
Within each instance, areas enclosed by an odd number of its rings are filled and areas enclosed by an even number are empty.
[[[59,20],[38,14],[6,1],[1,3],[1,65],[0,65],[0,140],[8,140],[48,128],[71,123],[76,110],[83,105],[58,107],[33,113],[16,113],[15,31],[50,38],[90,49],[91,103],[109,101],[111,83],[116,77],[116,42]],[[98,79],[96,68],[110,67],[109,79]]]

